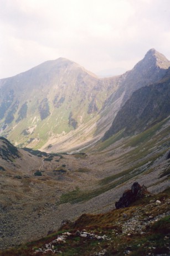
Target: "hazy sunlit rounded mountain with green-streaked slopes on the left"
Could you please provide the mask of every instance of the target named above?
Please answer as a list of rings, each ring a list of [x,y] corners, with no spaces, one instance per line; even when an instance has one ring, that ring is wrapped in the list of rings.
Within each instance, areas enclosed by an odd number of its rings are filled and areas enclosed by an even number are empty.
[[[115,86],[64,58],[44,62],[0,81],[1,132],[16,145],[48,146],[93,119]]]

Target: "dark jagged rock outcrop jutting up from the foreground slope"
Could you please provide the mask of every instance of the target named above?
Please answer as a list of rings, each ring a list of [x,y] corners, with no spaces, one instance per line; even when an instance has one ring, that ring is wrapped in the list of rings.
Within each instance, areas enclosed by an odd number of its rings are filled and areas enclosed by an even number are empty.
[[[118,202],[115,203],[116,209],[125,208],[131,203],[135,202],[137,199],[142,198],[144,194],[148,191],[146,186],[141,186],[137,182],[133,183],[130,190],[126,190]]]

